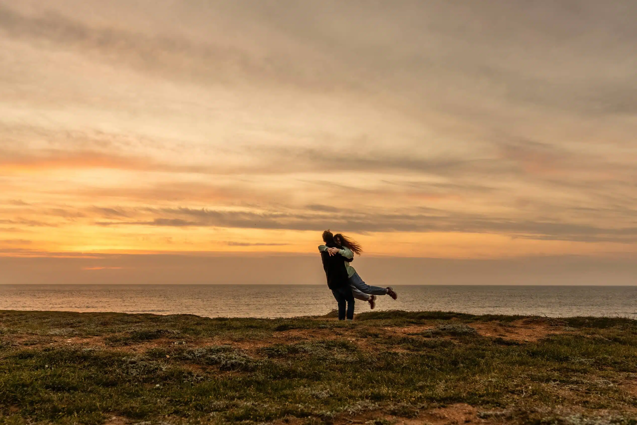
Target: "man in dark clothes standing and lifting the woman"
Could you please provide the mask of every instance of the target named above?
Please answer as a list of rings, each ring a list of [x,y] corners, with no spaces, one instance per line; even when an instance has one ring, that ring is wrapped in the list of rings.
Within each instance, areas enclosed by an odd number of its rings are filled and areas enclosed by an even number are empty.
[[[329,230],[323,232],[323,241],[327,247],[340,248],[334,243],[334,235]],[[354,320],[354,296],[345,268],[345,257],[341,254],[330,255],[326,251],[322,251],[320,257],[327,278],[327,287],[332,290],[338,303],[338,320],[345,320],[346,315],[348,321]],[[346,303],[347,313],[345,312]]]

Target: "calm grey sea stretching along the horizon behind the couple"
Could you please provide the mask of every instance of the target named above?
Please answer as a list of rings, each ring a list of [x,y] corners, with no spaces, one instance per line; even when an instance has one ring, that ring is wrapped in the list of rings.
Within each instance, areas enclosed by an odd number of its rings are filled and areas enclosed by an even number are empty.
[[[635,286],[405,285],[378,310],[637,318]],[[326,285],[0,285],[0,310],[294,317],[336,308]],[[369,311],[357,301],[357,312]]]

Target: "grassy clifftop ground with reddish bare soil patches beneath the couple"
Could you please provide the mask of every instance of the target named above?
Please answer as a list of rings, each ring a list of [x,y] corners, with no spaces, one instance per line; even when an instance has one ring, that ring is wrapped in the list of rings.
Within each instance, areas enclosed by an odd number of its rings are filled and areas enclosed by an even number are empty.
[[[520,322],[554,333],[524,342],[473,328]],[[399,331],[408,326],[415,331]],[[506,423],[634,425],[636,378],[629,319],[372,312],[346,324],[0,312],[6,424],[101,424],[113,415],[318,424],[366,412],[390,423],[468,403]]]

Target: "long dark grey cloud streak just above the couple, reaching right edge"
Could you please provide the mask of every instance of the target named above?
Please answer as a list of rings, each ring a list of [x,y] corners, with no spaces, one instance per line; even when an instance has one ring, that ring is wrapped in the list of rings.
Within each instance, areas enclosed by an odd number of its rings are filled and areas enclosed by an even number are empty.
[[[637,227],[600,227],[593,224],[539,221],[471,213],[432,210],[418,213],[371,213],[346,210],[339,213],[252,213],[191,208],[164,208],[138,212],[164,215],[152,220],[96,222],[99,226],[238,227],[243,229],[289,229],[321,231],[338,227],[343,231],[368,232],[464,232],[507,234],[537,240],[614,241],[634,243]],[[169,215],[171,217],[165,217]],[[245,246],[251,245],[250,243]],[[261,244],[262,245],[262,244]]]

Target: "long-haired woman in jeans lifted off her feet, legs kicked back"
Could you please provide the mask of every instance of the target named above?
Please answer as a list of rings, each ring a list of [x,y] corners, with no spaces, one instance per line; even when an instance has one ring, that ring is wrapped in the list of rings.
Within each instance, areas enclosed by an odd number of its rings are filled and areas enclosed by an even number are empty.
[[[398,294],[396,294],[396,291],[394,291],[394,289],[390,286],[383,288],[380,286],[371,286],[366,284],[356,272],[354,267],[352,267],[350,262],[354,259],[354,254],[358,254],[360,256],[362,252],[362,247],[359,243],[348,239],[341,233],[334,234],[334,242],[343,248],[328,248],[326,245],[320,245],[318,250],[327,251],[331,256],[334,254],[341,254],[341,256],[347,259],[345,262],[345,268],[347,268],[347,276],[349,278],[350,287],[352,287],[352,294],[354,294],[354,298],[368,301],[371,308],[376,306],[376,295],[389,295],[393,299],[398,298]]]

